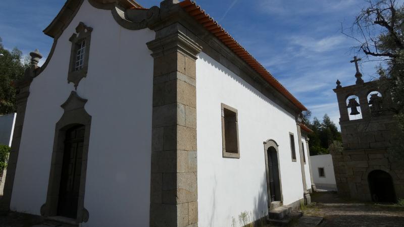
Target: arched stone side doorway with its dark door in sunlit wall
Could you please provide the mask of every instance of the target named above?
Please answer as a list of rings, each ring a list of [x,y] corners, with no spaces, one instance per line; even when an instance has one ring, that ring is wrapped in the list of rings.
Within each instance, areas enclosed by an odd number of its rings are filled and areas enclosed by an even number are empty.
[[[274,204],[272,204],[272,202],[279,202],[281,204],[283,202],[278,143],[273,139],[269,139],[269,140],[265,141],[264,142],[264,153],[265,153],[265,167],[266,167],[266,178],[267,178],[268,207],[269,207],[269,209],[272,209],[274,207]],[[271,167],[269,160],[272,160],[271,164],[274,164],[276,166]],[[272,172],[271,172],[271,169],[272,169]],[[275,179],[274,181],[272,181],[272,186],[271,186],[271,179]],[[271,192],[271,188],[273,190],[272,192]],[[274,200],[274,201],[271,201],[271,193],[273,194],[272,200]]]

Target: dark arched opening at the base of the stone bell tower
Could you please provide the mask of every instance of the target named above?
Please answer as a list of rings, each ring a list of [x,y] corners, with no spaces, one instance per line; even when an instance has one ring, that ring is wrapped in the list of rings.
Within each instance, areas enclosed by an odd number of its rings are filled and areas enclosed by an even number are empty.
[[[388,173],[376,169],[369,173],[368,182],[373,202],[396,202],[393,180]]]

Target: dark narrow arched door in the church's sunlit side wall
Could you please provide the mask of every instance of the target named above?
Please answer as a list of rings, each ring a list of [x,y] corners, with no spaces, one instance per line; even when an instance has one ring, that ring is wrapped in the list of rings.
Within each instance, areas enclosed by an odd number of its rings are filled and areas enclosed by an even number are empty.
[[[275,149],[268,149],[268,170],[269,170],[269,188],[271,202],[280,201],[280,181],[278,154]]]

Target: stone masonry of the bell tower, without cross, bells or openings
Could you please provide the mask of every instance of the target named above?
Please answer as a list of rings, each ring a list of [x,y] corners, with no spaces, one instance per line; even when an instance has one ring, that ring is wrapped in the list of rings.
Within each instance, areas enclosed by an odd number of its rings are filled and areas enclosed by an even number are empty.
[[[392,133],[396,123],[388,92],[384,92],[383,79],[341,87],[337,83],[337,94],[343,151],[331,153],[334,164],[338,194],[361,201],[372,201],[368,181],[369,173],[380,169],[388,173],[393,181],[396,198],[404,197],[404,166],[389,156]],[[375,115],[369,107],[368,95],[379,91],[383,97],[383,111]],[[356,95],[360,100],[362,119],[349,120],[346,99]]]

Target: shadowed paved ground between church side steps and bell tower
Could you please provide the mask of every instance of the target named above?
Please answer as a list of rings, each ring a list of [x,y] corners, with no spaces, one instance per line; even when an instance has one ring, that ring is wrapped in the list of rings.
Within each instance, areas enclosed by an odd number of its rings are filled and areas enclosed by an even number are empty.
[[[304,214],[324,217],[319,226],[404,226],[404,207],[343,200],[334,192],[316,193],[312,201]]]

